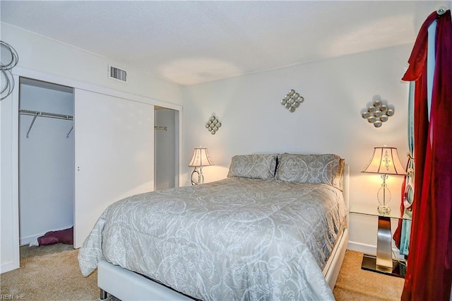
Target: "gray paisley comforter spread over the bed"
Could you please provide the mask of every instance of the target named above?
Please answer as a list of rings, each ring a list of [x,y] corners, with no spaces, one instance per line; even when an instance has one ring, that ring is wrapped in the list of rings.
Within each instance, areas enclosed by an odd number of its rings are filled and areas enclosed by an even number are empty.
[[[327,184],[227,178],[130,196],[97,220],[78,254],[202,300],[333,300],[322,275],[345,216]]]

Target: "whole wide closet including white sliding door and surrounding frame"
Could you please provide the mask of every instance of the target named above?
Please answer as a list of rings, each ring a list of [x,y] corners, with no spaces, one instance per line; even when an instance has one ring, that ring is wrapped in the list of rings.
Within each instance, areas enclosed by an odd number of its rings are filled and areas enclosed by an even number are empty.
[[[19,244],[73,225],[73,247],[81,247],[107,206],[153,191],[155,160],[163,162],[155,132],[175,135],[163,147],[173,160],[164,164],[174,171],[169,186],[179,186],[181,163],[181,106],[17,70],[0,105],[2,272],[19,267]],[[157,118],[169,109],[167,131],[155,129],[155,107]]]

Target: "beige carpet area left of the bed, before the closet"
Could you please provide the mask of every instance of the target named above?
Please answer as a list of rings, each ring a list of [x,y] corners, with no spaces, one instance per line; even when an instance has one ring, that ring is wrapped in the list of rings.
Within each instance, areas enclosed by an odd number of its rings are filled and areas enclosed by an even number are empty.
[[[10,300],[97,300],[97,273],[84,278],[77,254],[66,244],[20,247],[20,268],[0,276],[1,295],[11,295]]]

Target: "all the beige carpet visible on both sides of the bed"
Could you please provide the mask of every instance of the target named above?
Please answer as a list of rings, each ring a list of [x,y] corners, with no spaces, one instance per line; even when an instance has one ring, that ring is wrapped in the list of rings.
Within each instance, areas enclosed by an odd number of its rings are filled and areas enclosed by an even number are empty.
[[[78,250],[64,244],[20,247],[20,268],[0,276],[2,299],[98,300],[97,273],[84,278],[77,254]],[[361,261],[362,253],[345,254],[333,291],[336,300],[400,300],[403,279],[363,271]]]

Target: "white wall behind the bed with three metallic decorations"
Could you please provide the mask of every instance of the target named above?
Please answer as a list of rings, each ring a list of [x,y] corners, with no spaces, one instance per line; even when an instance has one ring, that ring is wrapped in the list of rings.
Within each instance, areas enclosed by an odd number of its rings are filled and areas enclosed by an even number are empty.
[[[203,169],[210,182],[227,175],[232,155],[337,153],[350,165],[351,205],[376,207],[381,179],[361,170],[373,148],[384,144],[397,147],[406,163],[407,90],[400,78],[411,49],[411,45],[391,47],[184,88],[185,163],[192,148],[207,147],[215,163]],[[280,105],[292,88],[304,96],[293,113]],[[375,95],[396,109],[378,129],[361,117]],[[215,135],[204,127],[212,113],[222,123]],[[187,184],[190,170],[186,164],[182,167]],[[388,180],[393,210],[398,208],[401,181]],[[350,216],[350,240],[375,246],[376,218]]]

